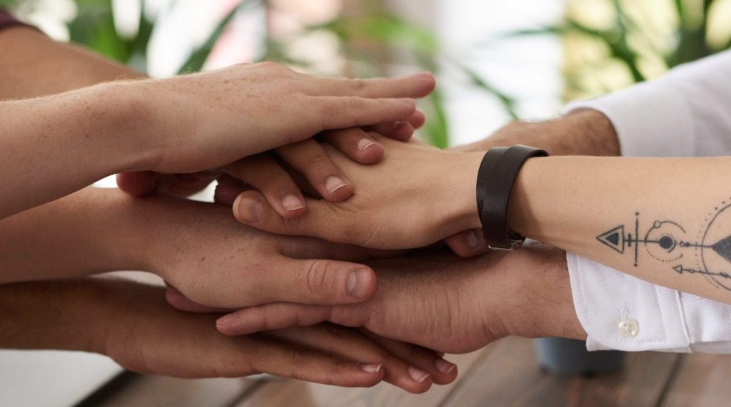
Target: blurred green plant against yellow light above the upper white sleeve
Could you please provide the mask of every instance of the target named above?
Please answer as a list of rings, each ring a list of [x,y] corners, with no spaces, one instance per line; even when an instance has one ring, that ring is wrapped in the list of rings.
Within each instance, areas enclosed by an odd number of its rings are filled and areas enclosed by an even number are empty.
[[[606,10],[603,18],[589,18],[583,13],[586,7],[602,5]],[[578,52],[578,61],[568,58],[565,72],[567,98],[593,97],[730,49],[731,30],[718,32],[719,28],[724,31],[724,27],[731,27],[731,16],[719,18],[722,11],[727,11],[723,7],[731,7],[730,1],[569,0],[564,23],[516,31],[510,36],[556,34],[566,40],[567,51],[573,46],[586,48],[593,44],[601,51],[583,55]],[[724,23],[714,27],[714,19]],[[608,66],[620,66],[624,80],[602,80],[602,69]]]

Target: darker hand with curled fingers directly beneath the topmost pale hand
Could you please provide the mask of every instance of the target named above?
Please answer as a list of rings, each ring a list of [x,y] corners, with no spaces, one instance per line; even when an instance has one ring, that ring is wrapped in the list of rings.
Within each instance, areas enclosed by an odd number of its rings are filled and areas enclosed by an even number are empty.
[[[417,110],[406,122],[381,123],[368,128],[322,133],[322,142],[338,148],[351,160],[361,164],[377,163],[384,147],[368,135],[368,131],[406,142],[415,128],[424,124],[423,112]],[[286,166],[287,168],[284,168]],[[121,190],[133,196],[163,193],[189,196],[204,189],[222,174],[239,179],[247,187],[259,190],[276,211],[284,217],[298,217],[306,212],[300,187],[289,174],[294,171],[306,180],[311,191],[331,202],[343,201],[352,195],[354,186],[338,166],[330,160],[325,149],[314,139],[279,147],[243,158],[215,170],[195,174],[158,174],[153,171],[128,172],[117,175]],[[309,192],[309,191],[308,191]]]

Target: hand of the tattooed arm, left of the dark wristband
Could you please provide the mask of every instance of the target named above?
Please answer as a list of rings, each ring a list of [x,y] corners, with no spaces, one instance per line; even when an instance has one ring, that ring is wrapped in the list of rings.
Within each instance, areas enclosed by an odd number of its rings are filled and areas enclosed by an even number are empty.
[[[376,136],[377,137],[377,136]],[[348,201],[308,200],[308,212],[281,217],[258,191],[238,196],[240,222],[272,233],[316,236],[375,249],[410,249],[480,227],[475,185],[482,153],[444,152],[378,138],[384,159],[357,166],[334,149],[333,159],[358,185]]]

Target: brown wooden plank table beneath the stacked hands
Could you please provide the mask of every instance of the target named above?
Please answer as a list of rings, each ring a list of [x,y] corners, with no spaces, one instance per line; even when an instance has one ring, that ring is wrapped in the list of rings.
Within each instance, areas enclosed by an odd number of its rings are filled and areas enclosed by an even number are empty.
[[[731,406],[731,355],[631,353],[619,373],[561,377],[540,370],[529,339],[505,338],[448,359],[458,364],[458,379],[423,395],[389,384],[346,389],[291,379],[183,380],[129,373],[81,406]]]

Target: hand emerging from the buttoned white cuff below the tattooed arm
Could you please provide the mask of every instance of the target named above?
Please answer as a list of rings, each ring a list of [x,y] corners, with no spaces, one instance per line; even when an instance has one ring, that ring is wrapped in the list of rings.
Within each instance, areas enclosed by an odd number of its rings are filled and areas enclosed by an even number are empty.
[[[371,263],[379,288],[351,306],[274,303],[218,320],[227,335],[322,321],[440,352],[471,352],[509,335],[586,338],[572,301],[565,253],[538,245],[460,260],[444,255]]]

